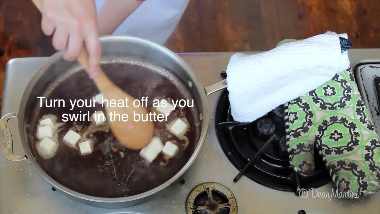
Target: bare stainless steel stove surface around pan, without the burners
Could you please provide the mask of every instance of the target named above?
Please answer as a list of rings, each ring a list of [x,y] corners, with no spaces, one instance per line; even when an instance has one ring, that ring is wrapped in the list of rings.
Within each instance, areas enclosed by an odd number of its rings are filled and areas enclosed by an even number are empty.
[[[253,54],[256,52],[247,52]],[[349,50],[351,66],[363,63],[380,62],[378,49]],[[221,80],[220,72],[234,53],[184,53],[179,54],[196,73],[203,86]],[[18,58],[8,62],[6,67],[2,115],[18,112],[22,93],[28,80],[47,57]],[[0,155],[0,213],[1,214],[152,214],[186,213],[187,199],[193,188],[204,182],[216,182],[231,190],[239,214],[356,214],[358,212],[376,213],[380,210],[380,193],[363,199],[348,200],[333,194],[332,182],[310,190],[304,197],[294,192],[276,190],[241,177],[236,183],[234,177],[239,173],[223,152],[215,132],[215,110],[223,92],[210,95],[208,99],[210,118],[209,129],[198,158],[178,182],[166,188],[161,196],[135,207],[125,209],[101,209],[78,203],[60,191],[52,191],[52,186],[28,163],[11,162]],[[9,120],[13,131],[15,155],[24,155],[17,131],[17,120]],[[377,127],[379,128],[379,127]],[[211,183],[216,190],[229,192],[223,186]],[[201,188],[202,185],[199,187]],[[193,192],[198,191],[195,189]],[[209,191],[211,192],[211,190]],[[207,195],[207,192],[206,192]],[[230,192],[230,197],[233,197]],[[194,195],[189,198],[194,198]],[[196,198],[196,197],[195,197]],[[199,205],[201,206],[201,205]],[[227,212],[228,213],[228,212]],[[230,212],[236,213],[236,212]]]

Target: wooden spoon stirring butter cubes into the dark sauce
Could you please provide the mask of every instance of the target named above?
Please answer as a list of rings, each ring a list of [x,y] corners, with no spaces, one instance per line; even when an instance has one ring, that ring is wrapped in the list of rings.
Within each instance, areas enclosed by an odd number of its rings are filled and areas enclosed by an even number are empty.
[[[32,0],[36,5],[38,10],[42,9],[42,0]],[[83,44],[81,52],[78,56],[79,63],[88,71],[89,69],[89,53],[86,49],[86,45]],[[124,145],[128,149],[139,150],[145,147],[150,143],[154,134],[154,124],[152,121],[134,121],[134,113],[139,115],[146,115],[148,110],[145,107],[134,107],[132,105],[135,97],[132,97],[130,94],[127,94],[125,91],[114,85],[105,73],[100,70],[98,77],[93,79],[95,85],[99,91],[103,94],[104,99],[111,101],[115,100],[124,100],[128,98],[128,107],[112,107],[105,106],[107,113],[107,121],[109,127],[112,130],[112,133],[115,135],[120,144]],[[111,121],[109,117],[110,113],[112,115],[119,114],[120,117],[123,114],[128,115],[128,121]],[[118,118],[118,117],[116,117]]]

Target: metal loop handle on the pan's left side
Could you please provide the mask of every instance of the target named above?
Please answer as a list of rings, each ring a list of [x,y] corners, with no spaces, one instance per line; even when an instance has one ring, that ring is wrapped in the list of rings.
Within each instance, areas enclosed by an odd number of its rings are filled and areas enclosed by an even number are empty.
[[[8,120],[18,118],[17,113],[8,113],[0,119],[0,149],[3,156],[10,161],[23,161],[28,158],[26,155],[15,156],[13,154],[13,141],[11,129],[8,126]]]

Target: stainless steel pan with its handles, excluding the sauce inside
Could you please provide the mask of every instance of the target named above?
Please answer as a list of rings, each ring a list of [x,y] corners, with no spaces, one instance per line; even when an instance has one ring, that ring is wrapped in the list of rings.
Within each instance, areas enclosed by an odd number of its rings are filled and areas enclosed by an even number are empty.
[[[150,197],[161,192],[168,187],[168,185],[179,179],[192,165],[206,138],[209,123],[209,110],[207,109],[206,97],[209,94],[225,88],[226,81],[222,80],[212,86],[204,88],[196,80],[192,69],[177,54],[148,40],[136,37],[105,36],[101,38],[101,44],[103,47],[102,62],[105,65],[120,64],[122,66],[122,64],[128,64],[134,65],[135,67],[142,66],[148,68],[148,70],[159,73],[161,77],[165,77],[166,80],[169,80],[174,87],[173,91],[177,91],[179,96],[181,95],[182,97],[187,97],[187,99],[191,98],[194,100],[195,106],[190,110],[194,117],[192,118],[192,121],[189,122],[193,124],[195,142],[190,142],[190,144],[193,143],[191,154],[186,158],[177,171],[173,173],[172,176],[165,179],[165,181],[161,182],[160,185],[157,185],[157,187],[152,189],[148,188],[134,195],[112,197],[93,196],[90,194],[81,193],[81,191],[75,191],[67,187],[67,185],[63,185],[62,182],[58,182],[57,179],[54,179],[54,175],[51,176],[51,172],[47,173],[46,170],[44,170],[44,168],[47,169],[46,166],[41,167],[41,161],[39,161],[39,157],[33,149],[35,142],[30,134],[33,130],[35,130],[36,115],[41,113],[41,111],[43,112],[43,110],[36,108],[38,104],[38,99],[36,99],[36,97],[54,93],[54,90],[57,91],[57,88],[59,87],[61,87],[62,90],[62,82],[67,82],[70,78],[73,79],[74,75],[85,75],[84,71],[81,70],[81,67],[77,62],[64,61],[62,53],[60,52],[54,54],[48,61],[42,64],[30,79],[22,96],[19,112],[8,113],[0,119],[0,128],[2,129],[2,132],[0,133],[2,140],[0,145],[3,156],[6,159],[10,161],[30,161],[32,166],[40,173],[41,176],[44,177],[44,179],[46,179],[56,189],[61,190],[74,199],[91,206],[103,208],[124,208],[128,206],[135,206],[149,200]],[[112,73],[112,71],[110,72]],[[153,79],[155,80],[157,78]],[[118,81],[118,78],[114,77],[114,81]],[[145,82],[145,84],[146,83],[147,82]],[[76,82],[75,84],[80,85],[82,83]],[[71,90],[70,93],[73,93],[72,90],[77,87],[75,84],[73,83],[72,87],[69,87],[71,88],[68,89],[68,91]],[[118,84],[122,85],[123,82],[119,80]],[[129,82],[129,84],[132,83]],[[154,85],[154,81],[152,84]],[[138,85],[136,85],[136,87],[138,87]],[[137,91],[139,91],[136,92],[137,94],[144,94],[143,89]],[[18,120],[19,133],[22,141],[21,143],[26,155],[13,155],[12,135],[8,126],[8,120],[10,118],[17,118]],[[126,154],[128,157],[133,155],[128,152]],[[66,169],[68,170],[70,168]]]

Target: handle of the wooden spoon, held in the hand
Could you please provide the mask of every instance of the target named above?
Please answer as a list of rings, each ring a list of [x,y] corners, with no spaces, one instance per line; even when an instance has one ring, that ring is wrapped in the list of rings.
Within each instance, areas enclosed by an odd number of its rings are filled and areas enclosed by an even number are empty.
[[[34,5],[38,8],[38,10],[41,12],[42,10],[42,0],[32,0]],[[78,62],[86,69],[87,73],[89,70],[89,52],[87,51],[86,45],[82,45],[82,49],[79,52],[78,56]],[[93,79],[95,85],[97,85],[99,91],[102,93],[108,93],[110,89],[112,89],[114,84],[107,78],[105,73],[100,70],[99,75]]]

